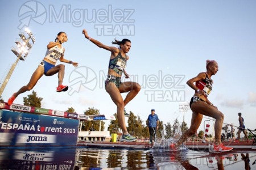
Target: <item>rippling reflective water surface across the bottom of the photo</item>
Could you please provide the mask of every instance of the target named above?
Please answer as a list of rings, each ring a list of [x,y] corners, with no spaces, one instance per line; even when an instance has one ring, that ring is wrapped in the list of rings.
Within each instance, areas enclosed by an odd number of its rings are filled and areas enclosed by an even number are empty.
[[[184,148],[147,151],[81,147],[0,148],[0,169],[256,169],[256,152],[209,154]],[[250,160],[255,160],[252,164]]]

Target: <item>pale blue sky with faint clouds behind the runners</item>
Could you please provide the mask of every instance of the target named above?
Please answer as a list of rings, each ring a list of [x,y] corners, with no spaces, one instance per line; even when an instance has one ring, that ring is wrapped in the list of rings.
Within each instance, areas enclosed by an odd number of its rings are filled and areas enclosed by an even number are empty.
[[[214,59],[219,70],[212,76],[213,90],[208,99],[224,113],[224,123],[239,126],[238,112],[241,112],[246,128],[256,128],[256,2],[253,0],[140,3],[0,0],[0,3],[1,84],[16,61],[11,48],[16,45],[19,31],[28,27],[36,39],[25,61],[19,61],[11,75],[2,94],[5,101],[28,83],[44,58],[48,43],[64,31],[68,36],[63,44],[64,58],[78,62],[79,67],[64,63],[63,84],[69,86],[67,92],[56,92],[57,74],[43,76],[38,81],[33,90],[43,97],[42,108],[66,111],[73,107],[79,114],[95,108],[101,114],[116,113],[117,108],[104,88],[110,52],[85,39],[82,29],[86,29],[90,37],[109,46],[115,46],[111,44],[114,39],[131,40],[126,67],[130,78],[122,81],[138,82],[142,88],[125,109],[140,116],[144,124],[154,108],[164,124],[172,125],[175,118],[182,123],[184,116],[190,126],[191,109],[179,112],[179,105],[188,103],[194,93],[186,82],[206,71],[207,59]],[[19,95],[14,103],[23,104],[23,97],[31,93]],[[198,132],[207,123],[212,133],[213,121],[207,117]]]

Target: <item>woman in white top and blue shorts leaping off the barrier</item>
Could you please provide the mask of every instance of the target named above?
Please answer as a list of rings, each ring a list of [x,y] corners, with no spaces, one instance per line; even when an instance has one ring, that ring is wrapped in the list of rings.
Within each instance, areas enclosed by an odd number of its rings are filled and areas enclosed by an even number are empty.
[[[13,101],[16,99],[16,97],[19,94],[22,94],[26,91],[31,90],[35,84],[38,82],[38,80],[43,76],[51,76],[56,73],[58,74],[59,82],[58,82],[58,87],[56,89],[57,92],[61,91],[67,91],[68,86],[63,86],[63,78],[64,78],[64,71],[65,71],[65,65],[60,64],[56,65],[57,60],[60,59],[61,62],[65,63],[71,63],[73,66],[77,67],[78,63],[77,62],[72,62],[64,58],[64,52],[65,49],[61,44],[64,42],[68,41],[68,37],[65,32],[59,32],[57,34],[57,37],[55,39],[55,42],[49,42],[47,45],[47,51],[46,51],[46,56],[44,59],[39,63],[38,68],[35,70],[35,72],[32,74],[30,78],[30,82],[26,86],[23,86],[20,88],[18,92],[15,92],[13,96],[10,97],[8,100],[8,105],[13,104]]]

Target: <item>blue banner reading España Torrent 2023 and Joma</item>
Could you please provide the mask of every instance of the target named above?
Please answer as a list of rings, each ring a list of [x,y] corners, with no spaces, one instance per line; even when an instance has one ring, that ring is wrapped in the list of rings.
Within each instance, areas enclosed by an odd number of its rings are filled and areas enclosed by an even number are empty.
[[[0,146],[75,146],[78,130],[79,120],[0,111]]]

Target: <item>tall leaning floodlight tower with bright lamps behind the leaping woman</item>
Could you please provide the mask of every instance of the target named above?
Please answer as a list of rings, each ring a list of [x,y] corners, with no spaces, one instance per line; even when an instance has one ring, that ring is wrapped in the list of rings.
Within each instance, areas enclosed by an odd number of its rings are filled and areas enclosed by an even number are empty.
[[[19,32],[19,39],[15,40],[16,46],[13,46],[13,48],[11,49],[11,51],[16,55],[16,57],[18,57],[16,59],[16,62],[13,63],[13,65],[11,66],[8,74],[6,75],[5,80],[3,81],[3,83],[1,84],[0,87],[0,96],[3,93],[3,90],[5,90],[5,86],[8,83],[11,74],[13,74],[13,71],[17,65],[17,63],[19,62],[19,60],[25,60],[28,56],[28,53],[30,52],[32,46],[35,43],[35,37],[32,34],[32,32],[26,28],[24,29],[24,31],[20,31]]]

